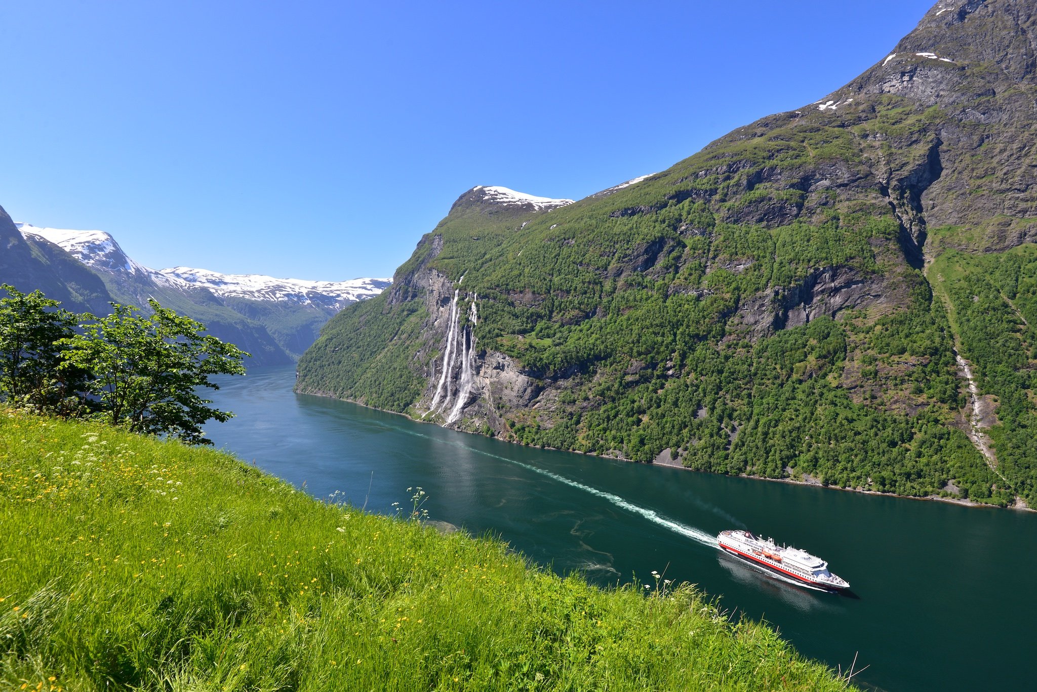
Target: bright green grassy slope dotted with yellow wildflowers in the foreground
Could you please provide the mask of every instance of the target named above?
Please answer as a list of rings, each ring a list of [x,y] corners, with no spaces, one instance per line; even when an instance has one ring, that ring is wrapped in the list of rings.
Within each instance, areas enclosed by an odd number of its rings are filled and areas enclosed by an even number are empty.
[[[0,408],[0,689],[847,687],[690,586],[598,589],[94,423]]]

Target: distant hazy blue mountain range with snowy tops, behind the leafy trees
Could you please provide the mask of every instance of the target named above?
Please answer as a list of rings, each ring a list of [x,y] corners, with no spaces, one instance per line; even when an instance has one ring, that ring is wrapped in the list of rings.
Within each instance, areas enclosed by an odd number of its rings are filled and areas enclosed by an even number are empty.
[[[15,224],[6,213],[0,217],[0,232],[4,228],[12,248],[25,246],[18,255],[5,254],[11,260],[0,267],[0,277],[9,275],[16,287],[39,287],[69,309],[101,313],[107,313],[109,301],[146,307],[148,298],[155,298],[251,353],[251,365],[292,362],[316,339],[329,317],[389,285],[388,279],[331,282],[184,267],[157,271],[129,257],[102,230]],[[48,274],[48,268],[54,271]]]

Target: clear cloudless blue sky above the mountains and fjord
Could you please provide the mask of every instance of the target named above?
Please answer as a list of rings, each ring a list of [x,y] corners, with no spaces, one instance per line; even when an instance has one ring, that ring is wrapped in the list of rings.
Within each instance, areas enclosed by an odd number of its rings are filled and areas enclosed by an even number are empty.
[[[391,276],[469,188],[665,169],[842,86],[931,4],[6,2],[0,205],[157,269]]]

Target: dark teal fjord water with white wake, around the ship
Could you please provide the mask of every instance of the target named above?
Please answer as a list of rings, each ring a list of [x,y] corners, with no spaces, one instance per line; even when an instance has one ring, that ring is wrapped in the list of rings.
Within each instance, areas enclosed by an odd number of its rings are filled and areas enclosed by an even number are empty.
[[[867,666],[886,690],[1033,689],[1037,514],[861,495],[522,447],[295,394],[291,367],[221,380],[237,414],[217,446],[317,497],[391,514],[407,489],[430,518],[492,533],[598,584],[689,581],[763,618],[807,656]],[[826,559],[846,596],[761,574],[714,547],[725,528]]]

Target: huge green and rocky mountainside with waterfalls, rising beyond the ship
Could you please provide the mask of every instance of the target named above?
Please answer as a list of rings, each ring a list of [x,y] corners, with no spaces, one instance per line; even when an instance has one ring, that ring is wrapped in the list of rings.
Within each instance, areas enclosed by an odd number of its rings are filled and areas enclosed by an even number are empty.
[[[569,202],[463,194],[298,390],[506,440],[1037,502],[1037,15],[934,5],[845,86]],[[530,200],[520,203],[520,200]]]

